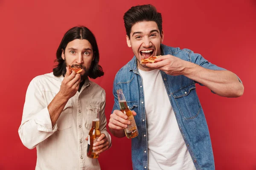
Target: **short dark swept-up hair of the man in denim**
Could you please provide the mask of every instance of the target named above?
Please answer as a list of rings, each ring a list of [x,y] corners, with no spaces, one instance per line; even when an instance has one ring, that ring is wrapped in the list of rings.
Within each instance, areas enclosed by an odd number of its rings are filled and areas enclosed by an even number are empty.
[[[162,34],[162,15],[151,4],[133,6],[124,14],[126,34],[130,38],[131,27],[141,21],[154,21],[157,23],[160,34]]]

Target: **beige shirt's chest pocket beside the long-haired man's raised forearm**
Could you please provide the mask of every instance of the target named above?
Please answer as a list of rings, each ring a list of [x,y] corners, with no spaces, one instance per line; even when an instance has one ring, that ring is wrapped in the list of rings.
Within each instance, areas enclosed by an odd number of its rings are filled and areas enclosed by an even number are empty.
[[[72,127],[72,103],[67,102],[61,115],[57,120],[58,131]]]

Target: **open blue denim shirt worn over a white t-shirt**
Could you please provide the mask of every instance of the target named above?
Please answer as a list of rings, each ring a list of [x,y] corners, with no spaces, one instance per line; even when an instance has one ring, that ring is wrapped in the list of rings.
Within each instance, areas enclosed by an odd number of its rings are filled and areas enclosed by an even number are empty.
[[[171,54],[211,70],[224,70],[195,54],[189,49],[173,48],[161,44],[162,55]],[[180,133],[197,170],[214,170],[212,144],[204,111],[196,93],[195,81],[183,75],[171,76],[160,71],[169,96]],[[154,82],[152,82],[154,83]],[[148,170],[147,120],[142,78],[134,56],[116,74],[113,82],[113,110],[120,110],[116,90],[122,89],[128,107],[137,113],[134,116],[139,135],[132,140],[132,163],[134,170]],[[160,94],[166,95],[166,94]],[[152,96],[154,100],[154,96]],[[113,111],[112,111],[113,113]],[[159,108],[161,113],[161,108]],[[157,128],[157,127],[156,127]],[[168,128],[168,127],[166,127]]]

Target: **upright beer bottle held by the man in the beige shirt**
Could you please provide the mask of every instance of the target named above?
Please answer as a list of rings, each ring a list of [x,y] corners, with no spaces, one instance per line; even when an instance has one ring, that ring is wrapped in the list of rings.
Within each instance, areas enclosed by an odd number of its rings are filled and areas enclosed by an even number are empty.
[[[97,142],[101,134],[99,130],[99,109],[94,109],[93,111],[97,114],[97,118],[93,119],[92,128],[88,135],[87,156],[89,158],[98,158],[99,155],[96,155],[97,150],[93,150],[93,143]]]

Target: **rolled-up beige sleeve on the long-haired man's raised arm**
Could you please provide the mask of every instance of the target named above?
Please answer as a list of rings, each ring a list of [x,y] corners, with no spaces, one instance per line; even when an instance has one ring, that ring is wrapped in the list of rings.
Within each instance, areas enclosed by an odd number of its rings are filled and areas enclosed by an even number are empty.
[[[18,130],[20,139],[24,146],[33,149],[56,130],[57,123],[52,127],[44,95],[33,79],[26,92],[22,121]]]

